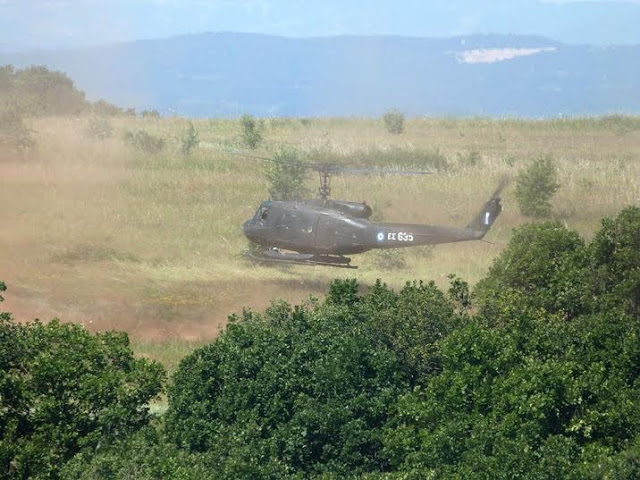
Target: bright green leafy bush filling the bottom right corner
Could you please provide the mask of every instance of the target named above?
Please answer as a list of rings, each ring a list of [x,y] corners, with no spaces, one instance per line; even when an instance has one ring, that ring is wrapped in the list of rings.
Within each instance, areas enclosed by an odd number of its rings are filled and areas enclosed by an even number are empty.
[[[637,460],[629,446],[640,440],[639,326],[601,314],[457,329],[442,342],[442,372],[398,402],[384,441],[392,470],[409,478],[634,478],[638,464],[625,468],[622,459]]]

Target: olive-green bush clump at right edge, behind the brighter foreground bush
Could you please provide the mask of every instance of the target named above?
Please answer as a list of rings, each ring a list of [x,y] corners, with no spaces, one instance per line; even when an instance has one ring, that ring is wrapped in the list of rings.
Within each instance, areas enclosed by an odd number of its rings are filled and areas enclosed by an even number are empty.
[[[638,239],[638,207],[603,219],[591,244],[558,222],[524,225],[476,285],[477,306],[490,322],[531,310],[564,319],[614,310],[637,316]]]

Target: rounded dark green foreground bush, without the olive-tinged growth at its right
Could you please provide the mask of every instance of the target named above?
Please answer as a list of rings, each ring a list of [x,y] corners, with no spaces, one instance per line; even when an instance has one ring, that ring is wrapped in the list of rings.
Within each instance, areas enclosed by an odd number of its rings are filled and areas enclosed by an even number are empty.
[[[274,304],[230,320],[185,358],[169,392],[167,431],[222,468],[256,466],[345,475],[375,469],[379,428],[405,385],[394,355],[341,307]]]

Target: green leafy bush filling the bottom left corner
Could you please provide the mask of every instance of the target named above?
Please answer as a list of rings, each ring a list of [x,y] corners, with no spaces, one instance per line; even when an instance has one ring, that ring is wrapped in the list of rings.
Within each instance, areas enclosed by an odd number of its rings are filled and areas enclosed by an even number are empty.
[[[82,449],[147,425],[164,369],[136,359],[125,333],[53,320],[0,319],[0,472],[56,477]]]

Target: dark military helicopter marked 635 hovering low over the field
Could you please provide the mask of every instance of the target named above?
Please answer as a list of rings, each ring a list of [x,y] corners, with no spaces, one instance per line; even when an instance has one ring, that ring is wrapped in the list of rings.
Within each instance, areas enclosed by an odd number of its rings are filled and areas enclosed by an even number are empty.
[[[259,246],[258,253],[250,254],[252,259],[260,262],[358,268],[351,265],[351,258],[346,255],[373,249],[481,240],[502,211],[500,192],[507,183],[506,180],[500,183],[480,212],[464,228],[379,223],[370,220],[373,212],[366,203],[331,199],[330,179],[333,174],[423,175],[433,172],[345,168],[326,163],[302,165],[319,173],[318,198],[302,201],[268,200],[260,203],[253,217],[242,225],[244,235]]]

